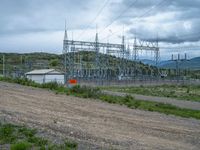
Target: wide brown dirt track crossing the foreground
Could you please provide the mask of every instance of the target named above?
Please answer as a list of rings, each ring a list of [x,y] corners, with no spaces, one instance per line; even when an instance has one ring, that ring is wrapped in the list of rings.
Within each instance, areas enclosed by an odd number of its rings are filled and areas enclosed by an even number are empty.
[[[79,149],[200,148],[200,121],[0,82],[0,117],[75,138]]]

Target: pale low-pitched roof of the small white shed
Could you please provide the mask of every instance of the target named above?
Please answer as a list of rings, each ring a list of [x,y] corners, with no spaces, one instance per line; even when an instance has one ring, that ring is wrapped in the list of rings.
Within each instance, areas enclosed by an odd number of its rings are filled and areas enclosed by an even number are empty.
[[[27,72],[26,75],[43,75],[43,74],[63,74],[55,69],[39,69]]]

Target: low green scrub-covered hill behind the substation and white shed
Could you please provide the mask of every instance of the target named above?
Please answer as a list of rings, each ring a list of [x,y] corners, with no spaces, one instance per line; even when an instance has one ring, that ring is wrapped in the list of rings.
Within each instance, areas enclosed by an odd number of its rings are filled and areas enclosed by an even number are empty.
[[[64,71],[64,56],[49,53],[0,53],[0,74],[3,70],[3,55],[5,55],[5,65],[7,74],[12,74],[17,72],[18,74],[23,74],[33,69],[47,69],[54,68],[60,71]],[[78,52],[70,53],[71,59],[74,59],[75,66],[85,67],[88,69],[93,69],[95,67],[95,53],[94,52]],[[136,66],[138,74],[155,72],[156,67],[151,67],[145,65],[141,62],[134,62],[130,60],[125,60],[117,58],[115,56],[110,56],[106,54],[99,54],[99,67],[117,70],[122,64],[125,68],[134,68]]]

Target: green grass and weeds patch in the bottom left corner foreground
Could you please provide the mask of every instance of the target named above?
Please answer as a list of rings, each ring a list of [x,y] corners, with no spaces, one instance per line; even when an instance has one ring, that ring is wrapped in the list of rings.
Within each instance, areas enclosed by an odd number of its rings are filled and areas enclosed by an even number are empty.
[[[0,123],[0,145],[10,145],[11,150],[76,150],[77,144],[66,140],[63,144],[54,144],[37,136],[37,130]]]

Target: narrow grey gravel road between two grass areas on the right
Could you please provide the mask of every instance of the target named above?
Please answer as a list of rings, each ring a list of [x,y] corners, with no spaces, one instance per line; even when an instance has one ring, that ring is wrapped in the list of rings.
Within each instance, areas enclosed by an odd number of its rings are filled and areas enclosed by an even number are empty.
[[[103,93],[115,95],[115,96],[126,96],[127,95],[127,93],[107,91],[107,90],[104,90]],[[137,100],[166,103],[166,104],[172,104],[172,105],[178,106],[180,108],[200,110],[200,102],[177,100],[174,98],[166,98],[166,97],[145,96],[145,95],[140,95],[140,94],[128,94],[128,95],[135,97]]]

